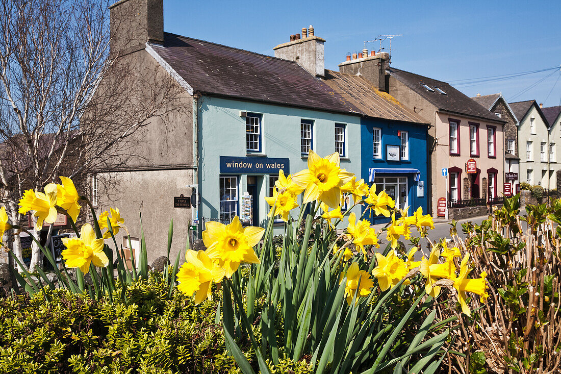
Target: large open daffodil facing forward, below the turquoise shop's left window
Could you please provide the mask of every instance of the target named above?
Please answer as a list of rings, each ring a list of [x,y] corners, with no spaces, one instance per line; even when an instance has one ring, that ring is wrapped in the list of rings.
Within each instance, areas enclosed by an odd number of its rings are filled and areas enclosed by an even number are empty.
[[[206,222],[205,225],[203,243],[207,248],[206,254],[218,262],[227,278],[232,277],[241,262],[259,263],[253,247],[263,237],[263,227],[243,228],[238,216],[229,225],[214,221]]]

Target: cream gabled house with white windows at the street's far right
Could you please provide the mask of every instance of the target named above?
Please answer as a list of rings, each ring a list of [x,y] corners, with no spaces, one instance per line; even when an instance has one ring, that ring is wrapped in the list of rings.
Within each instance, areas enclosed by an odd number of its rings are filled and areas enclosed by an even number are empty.
[[[557,188],[559,130],[552,129],[551,134],[548,120],[535,100],[509,103],[509,106],[519,123],[519,180],[544,189]]]

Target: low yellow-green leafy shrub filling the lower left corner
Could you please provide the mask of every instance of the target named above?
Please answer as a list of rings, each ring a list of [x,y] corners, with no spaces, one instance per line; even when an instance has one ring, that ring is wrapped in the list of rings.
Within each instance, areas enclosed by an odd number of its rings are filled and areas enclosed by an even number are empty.
[[[121,290],[117,289],[120,293]],[[0,299],[0,372],[234,373],[222,327],[220,295],[195,307],[151,275],[126,290],[126,301],[95,300],[68,290]],[[250,350],[245,349],[252,361]],[[309,373],[282,360],[275,373]]]

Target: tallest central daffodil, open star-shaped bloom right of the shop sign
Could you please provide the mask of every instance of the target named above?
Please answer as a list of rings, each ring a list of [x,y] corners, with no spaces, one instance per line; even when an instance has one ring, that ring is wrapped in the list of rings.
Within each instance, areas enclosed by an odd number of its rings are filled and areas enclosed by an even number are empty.
[[[304,203],[320,200],[331,208],[341,203],[341,186],[350,181],[353,174],[339,167],[339,153],[321,158],[310,149],[308,168],[292,175],[292,181],[304,191]]]

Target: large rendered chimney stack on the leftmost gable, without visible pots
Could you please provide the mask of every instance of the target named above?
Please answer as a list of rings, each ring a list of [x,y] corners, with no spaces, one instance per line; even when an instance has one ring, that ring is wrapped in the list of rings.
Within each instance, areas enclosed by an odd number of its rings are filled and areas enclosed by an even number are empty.
[[[146,42],[163,44],[163,0],[121,0],[109,11],[113,56],[140,51]]]

